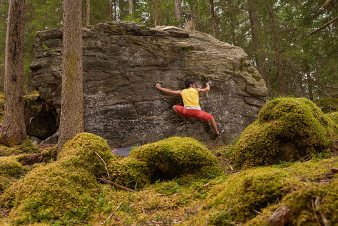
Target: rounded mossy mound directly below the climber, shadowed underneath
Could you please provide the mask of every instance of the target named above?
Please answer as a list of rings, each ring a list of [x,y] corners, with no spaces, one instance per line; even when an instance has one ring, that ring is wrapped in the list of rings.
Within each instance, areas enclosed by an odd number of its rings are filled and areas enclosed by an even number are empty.
[[[174,178],[182,173],[219,171],[216,157],[192,138],[172,137],[146,144],[130,152],[131,158],[146,162],[152,180]]]

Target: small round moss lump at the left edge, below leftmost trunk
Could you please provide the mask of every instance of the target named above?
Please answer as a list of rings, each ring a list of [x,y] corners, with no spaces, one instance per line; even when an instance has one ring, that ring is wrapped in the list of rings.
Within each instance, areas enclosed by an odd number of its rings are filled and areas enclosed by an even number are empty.
[[[15,156],[0,157],[0,176],[18,177],[22,173],[23,167]]]

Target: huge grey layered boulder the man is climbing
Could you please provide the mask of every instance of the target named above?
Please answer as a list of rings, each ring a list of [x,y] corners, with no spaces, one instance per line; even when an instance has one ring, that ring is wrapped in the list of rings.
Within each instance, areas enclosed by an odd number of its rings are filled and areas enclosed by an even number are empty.
[[[155,142],[173,135],[208,144],[229,143],[257,119],[266,83],[246,53],[210,35],[175,27],[147,28],[134,22],[102,22],[83,28],[83,101],[85,130],[111,147]],[[62,30],[38,32],[30,67],[33,85],[59,115]],[[179,90],[186,78],[210,91],[201,108],[226,132],[216,139],[209,122],[181,119],[172,105],[181,97],[155,84]]]

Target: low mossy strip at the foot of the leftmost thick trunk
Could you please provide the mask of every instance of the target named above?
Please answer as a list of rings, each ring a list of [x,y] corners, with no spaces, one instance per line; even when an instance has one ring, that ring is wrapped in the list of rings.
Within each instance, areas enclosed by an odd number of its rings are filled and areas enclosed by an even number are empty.
[[[14,147],[7,147],[6,145],[0,145],[0,156],[13,156],[21,153],[40,153],[41,150],[37,145],[32,143],[32,140],[25,139],[20,145]]]

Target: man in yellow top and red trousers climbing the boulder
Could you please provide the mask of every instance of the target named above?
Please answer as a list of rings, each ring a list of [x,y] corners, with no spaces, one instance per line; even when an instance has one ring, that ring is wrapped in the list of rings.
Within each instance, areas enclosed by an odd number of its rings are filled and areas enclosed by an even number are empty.
[[[182,97],[184,107],[180,105],[172,106],[172,109],[174,109],[175,113],[183,118],[184,121],[181,122],[182,125],[189,123],[187,117],[197,117],[206,122],[210,121],[212,128],[217,134],[217,137],[220,138],[221,134],[224,132],[224,129],[218,131],[214,117],[212,117],[212,115],[209,113],[206,113],[206,111],[202,111],[201,106],[199,106],[199,93],[206,93],[210,91],[209,84],[206,84],[206,88],[196,88],[195,81],[192,79],[186,79],[184,84],[186,89],[183,89],[183,91],[172,91],[169,88],[161,87],[160,84],[156,84],[156,87],[164,93],[180,95]]]

